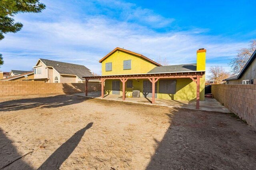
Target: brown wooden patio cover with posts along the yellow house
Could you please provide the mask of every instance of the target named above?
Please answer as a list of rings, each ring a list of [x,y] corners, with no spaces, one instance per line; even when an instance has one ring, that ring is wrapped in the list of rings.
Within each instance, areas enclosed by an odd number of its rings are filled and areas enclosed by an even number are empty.
[[[101,82],[101,98],[104,98],[104,82],[107,79],[118,79],[122,82],[122,100],[126,99],[125,84],[128,79],[148,79],[152,83],[152,104],[155,104],[155,84],[159,79],[167,78],[188,78],[196,83],[196,109],[200,108],[200,78],[205,74],[204,71],[183,71],[169,73],[144,73],[144,74],[129,74],[129,75],[102,75],[83,77],[85,79],[85,96],[88,96],[88,81],[90,79],[100,79]]]

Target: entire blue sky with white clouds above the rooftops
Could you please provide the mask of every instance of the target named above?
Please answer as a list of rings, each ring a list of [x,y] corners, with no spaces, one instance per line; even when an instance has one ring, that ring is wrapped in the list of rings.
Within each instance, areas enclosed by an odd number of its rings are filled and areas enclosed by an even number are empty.
[[[31,70],[38,58],[82,64],[100,73],[98,60],[115,47],[170,65],[196,63],[207,49],[207,69],[222,65],[256,39],[253,0],[42,0],[40,14],[18,14],[24,27],[0,41],[2,71]]]

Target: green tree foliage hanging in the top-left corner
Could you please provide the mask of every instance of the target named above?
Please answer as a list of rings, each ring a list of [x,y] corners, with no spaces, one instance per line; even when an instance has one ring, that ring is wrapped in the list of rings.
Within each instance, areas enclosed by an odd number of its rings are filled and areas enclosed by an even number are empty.
[[[22,28],[20,22],[15,22],[14,15],[24,12],[38,13],[45,9],[45,5],[39,0],[0,0],[0,40],[8,32],[18,32]],[[2,55],[0,65],[3,64]]]

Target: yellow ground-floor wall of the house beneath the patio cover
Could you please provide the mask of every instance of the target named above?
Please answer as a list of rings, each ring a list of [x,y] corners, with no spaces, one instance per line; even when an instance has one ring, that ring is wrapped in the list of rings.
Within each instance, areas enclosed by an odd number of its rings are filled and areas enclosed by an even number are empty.
[[[200,79],[200,101],[204,101],[204,77]],[[125,88],[126,96],[130,93],[132,95],[133,90],[140,91],[140,97],[143,97],[143,81],[148,79],[128,79],[132,80],[132,86],[134,88]],[[105,94],[112,95],[112,81],[105,81]],[[118,81],[118,80],[116,80]],[[120,81],[120,96],[122,96],[122,82]],[[192,79],[179,78],[176,79],[176,93],[175,94],[162,94],[159,93],[159,81],[157,81],[157,98],[166,100],[177,101],[196,101],[196,83]]]

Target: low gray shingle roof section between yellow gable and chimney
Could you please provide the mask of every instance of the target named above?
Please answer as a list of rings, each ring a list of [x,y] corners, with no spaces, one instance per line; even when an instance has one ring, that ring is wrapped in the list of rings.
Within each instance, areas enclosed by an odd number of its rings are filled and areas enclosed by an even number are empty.
[[[184,72],[184,71],[196,71],[196,63],[159,66],[148,71],[148,73],[169,73],[169,72]]]

